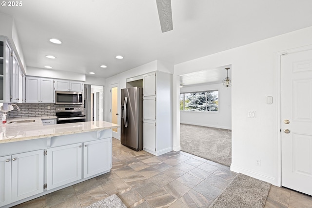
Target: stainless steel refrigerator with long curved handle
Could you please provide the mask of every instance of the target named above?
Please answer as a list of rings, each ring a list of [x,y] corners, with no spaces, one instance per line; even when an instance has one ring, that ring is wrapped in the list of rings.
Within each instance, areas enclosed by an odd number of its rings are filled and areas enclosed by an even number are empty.
[[[143,88],[121,89],[120,141],[136,151],[143,149]]]

